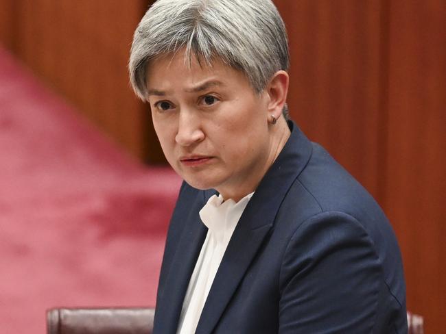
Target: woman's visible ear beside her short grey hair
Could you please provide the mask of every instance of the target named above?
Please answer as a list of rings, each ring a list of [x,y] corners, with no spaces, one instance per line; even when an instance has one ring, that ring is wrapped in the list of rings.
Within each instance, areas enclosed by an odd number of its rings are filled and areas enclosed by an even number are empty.
[[[284,70],[279,70],[274,73],[270,79],[270,83],[266,88],[268,93],[268,114],[279,118],[282,114],[283,106],[287,101],[288,85],[290,84],[290,77]]]

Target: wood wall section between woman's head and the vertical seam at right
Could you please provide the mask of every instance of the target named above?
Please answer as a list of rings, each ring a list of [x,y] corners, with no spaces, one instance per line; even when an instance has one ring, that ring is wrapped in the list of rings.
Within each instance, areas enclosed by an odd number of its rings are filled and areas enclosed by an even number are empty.
[[[386,136],[381,3],[275,3],[290,35],[292,118],[378,196]]]

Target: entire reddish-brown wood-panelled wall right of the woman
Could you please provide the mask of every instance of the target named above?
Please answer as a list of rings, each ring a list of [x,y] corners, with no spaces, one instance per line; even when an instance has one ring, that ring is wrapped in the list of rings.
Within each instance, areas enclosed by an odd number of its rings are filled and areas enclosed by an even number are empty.
[[[290,36],[292,118],[384,207],[408,309],[442,333],[445,1],[274,2]]]

